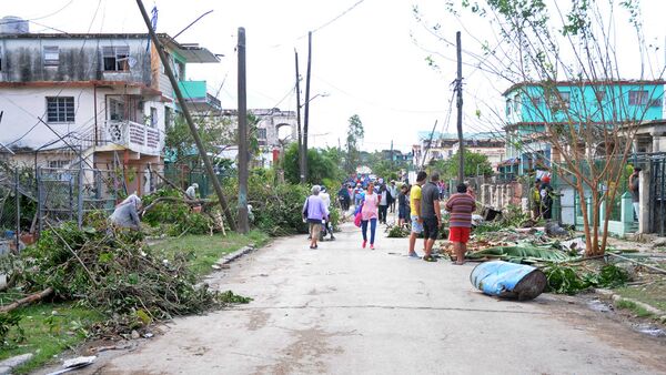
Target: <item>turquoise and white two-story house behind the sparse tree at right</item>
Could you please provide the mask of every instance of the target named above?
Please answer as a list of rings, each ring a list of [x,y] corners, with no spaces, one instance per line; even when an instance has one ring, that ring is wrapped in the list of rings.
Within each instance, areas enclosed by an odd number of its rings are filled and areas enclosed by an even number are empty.
[[[561,155],[546,136],[546,126],[576,129],[579,124],[594,124],[620,129],[664,119],[664,83],[567,81],[512,85],[503,93],[506,102],[506,159],[500,165],[501,175],[512,179],[561,161]],[[589,142],[581,140],[579,144],[568,146],[596,152],[604,149],[603,141],[595,139],[594,144],[587,144]],[[646,151],[644,149],[636,148],[634,152]]]

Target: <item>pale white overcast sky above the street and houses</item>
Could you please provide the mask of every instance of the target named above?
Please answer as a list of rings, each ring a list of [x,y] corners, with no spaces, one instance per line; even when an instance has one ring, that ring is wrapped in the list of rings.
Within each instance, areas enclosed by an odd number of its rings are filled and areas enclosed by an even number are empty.
[[[551,0],[569,3],[568,0]],[[158,31],[174,36],[206,11],[178,37],[182,43],[199,43],[222,53],[220,63],[189,64],[188,78],[205,80],[209,91],[219,92],[222,107],[238,107],[236,54],[239,27],[245,28],[248,60],[248,108],[296,109],[294,50],[301,75],[305,77],[307,31],[312,38],[310,144],[344,144],[347,119],[357,114],[365,129],[362,149],[393,148],[407,152],[418,131],[455,131],[452,82],[455,79],[455,40],[462,31],[463,59],[480,54],[480,40],[492,39],[491,26],[476,17],[454,17],[441,0],[154,0],[159,10]],[[416,19],[413,7],[423,18]],[[666,1],[644,0],[646,41],[665,45]],[[0,1],[0,17],[31,20],[31,32],[145,32],[134,0],[22,0]],[[434,38],[428,26],[438,24],[447,41]],[[629,30],[630,31],[630,30]],[[635,38],[616,32],[622,62],[633,67],[626,78],[637,78],[632,55]],[[433,53],[434,52],[434,53]],[[470,54],[468,54],[470,53]],[[434,55],[438,68],[426,58]],[[664,65],[664,49],[654,53],[655,65]],[[474,58],[472,58],[474,59]],[[497,130],[490,112],[501,112],[502,91],[509,83],[476,69],[463,67],[465,82],[465,132]],[[302,101],[305,82],[301,81]],[[327,94],[327,95],[326,95]]]

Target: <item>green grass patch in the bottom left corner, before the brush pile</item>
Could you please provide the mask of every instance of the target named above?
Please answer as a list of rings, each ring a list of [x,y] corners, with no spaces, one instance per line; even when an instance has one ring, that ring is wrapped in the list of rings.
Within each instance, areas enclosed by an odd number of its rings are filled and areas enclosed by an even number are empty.
[[[53,362],[58,354],[83,343],[88,337],[87,327],[103,320],[101,314],[72,303],[37,304],[18,308],[16,313],[22,316],[19,326],[24,332],[24,341],[0,349],[0,359],[34,354],[31,361],[16,368],[16,374],[29,373]],[[10,335],[14,335],[14,331]]]

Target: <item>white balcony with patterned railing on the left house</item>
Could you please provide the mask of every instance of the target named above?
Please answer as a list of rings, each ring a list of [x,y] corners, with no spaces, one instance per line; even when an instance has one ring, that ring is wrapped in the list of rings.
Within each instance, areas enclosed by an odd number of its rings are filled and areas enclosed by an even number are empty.
[[[102,134],[103,143],[114,143],[142,154],[157,156],[162,150],[160,131],[133,121],[107,120]]]

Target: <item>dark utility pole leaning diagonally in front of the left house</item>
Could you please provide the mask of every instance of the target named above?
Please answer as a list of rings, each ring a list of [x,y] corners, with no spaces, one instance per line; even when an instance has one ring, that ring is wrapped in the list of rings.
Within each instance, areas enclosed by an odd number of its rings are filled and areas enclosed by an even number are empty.
[[[199,136],[199,133],[196,132],[196,126],[194,125],[194,121],[192,121],[192,116],[190,115],[190,110],[188,109],[185,100],[183,99],[183,94],[180,90],[180,87],[178,85],[178,81],[173,77],[173,71],[171,70],[171,64],[169,64],[169,60],[167,60],[167,55],[164,54],[164,51],[162,50],[162,42],[160,42],[160,40],[158,39],[158,34],[155,33],[155,31],[152,28],[152,24],[150,22],[150,19],[148,18],[148,13],[145,12],[145,8],[143,8],[143,3],[141,2],[141,0],[137,0],[137,4],[139,6],[141,16],[143,16],[143,21],[145,22],[145,26],[148,27],[148,32],[150,33],[150,38],[153,42],[153,45],[155,47],[155,50],[158,51],[158,54],[160,55],[162,65],[164,65],[164,72],[167,73],[167,77],[169,77],[169,82],[171,82],[171,87],[173,89],[173,92],[175,93],[175,98],[178,99],[181,110],[183,111],[183,115],[185,118],[185,121],[188,122],[188,126],[190,126],[190,132],[192,133],[194,143],[196,144],[196,149],[199,149],[199,154],[201,155],[201,159],[203,160],[203,165],[205,166],[205,171],[206,171],[209,178],[211,179],[211,181],[213,182],[213,188],[215,189],[215,194],[218,195],[218,199],[220,200],[220,205],[222,206],[222,212],[224,212],[224,216],[226,216],[226,221],[229,222],[229,227],[231,227],[232,231],[235,231],[235,223],[233,221],[233,216],[231,215],[231,211],[229,211],[229,205],[226,204],[226,200],[224,199],[224,193],[222,192],[222,186],[220,185],[220,181],[218,180],[218,176],[215,175],[215,172],[213,171],[213,164],[211,164],[211,161],[209,160],[208,154],[205,153],[205,150],[203,149],[203,143],[201,142],[201,138]]]

